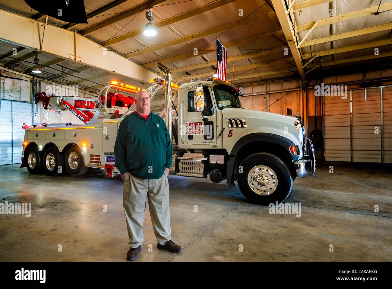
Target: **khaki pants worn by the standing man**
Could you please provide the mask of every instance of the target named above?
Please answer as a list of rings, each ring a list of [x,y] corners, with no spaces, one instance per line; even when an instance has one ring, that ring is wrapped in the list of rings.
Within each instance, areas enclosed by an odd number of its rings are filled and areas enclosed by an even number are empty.
[[[171,238],[169,212],[169,181],[167,172],[159,179],[139,179],[129,172],[124,179],[123,206],[129,242],[132,248],[143,243],[143,221],[146,199],[150,209],[156,240],[164,245]]]

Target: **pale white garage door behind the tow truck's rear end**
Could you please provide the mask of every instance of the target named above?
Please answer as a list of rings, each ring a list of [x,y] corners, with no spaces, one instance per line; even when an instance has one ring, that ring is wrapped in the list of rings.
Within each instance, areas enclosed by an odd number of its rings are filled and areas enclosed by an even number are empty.
[[[0,104],[0,165],[21,162],[23,123],[30,124],[33,106],[28,102],[5,101]]]

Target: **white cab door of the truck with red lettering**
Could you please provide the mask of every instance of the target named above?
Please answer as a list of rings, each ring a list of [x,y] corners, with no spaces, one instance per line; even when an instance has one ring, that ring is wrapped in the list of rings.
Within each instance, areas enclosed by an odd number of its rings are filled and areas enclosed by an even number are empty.
[[[203,118],[208,120],[203,121]],[[209,86],[204,86],[203,115],[194,109],[193,88],[186,91],[184,124],[187,144],[216,144],[216,108]]]

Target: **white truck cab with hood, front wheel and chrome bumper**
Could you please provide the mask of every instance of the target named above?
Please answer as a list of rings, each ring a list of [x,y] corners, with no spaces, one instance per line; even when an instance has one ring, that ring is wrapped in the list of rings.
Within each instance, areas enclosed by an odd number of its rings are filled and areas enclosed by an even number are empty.
[[[190,82],[178,92],[178,176],[226,179],[268,205],[289,196],[296,177],[314,174],[312,143],[296,117],[245,110],[229,81]]]

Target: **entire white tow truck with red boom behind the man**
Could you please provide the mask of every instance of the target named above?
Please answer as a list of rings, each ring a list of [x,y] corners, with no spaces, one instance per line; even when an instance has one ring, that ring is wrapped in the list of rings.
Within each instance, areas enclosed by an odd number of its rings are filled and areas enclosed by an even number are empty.
[[[229,81],[213,78],[178,86],[172,84],[166,66],[158,67],[165,80],[152,80],[146,91],[151,101],[158,91],[165,91],[158,113],[165,115],[173,139],[175,175],[209,177],[214,183],[226,180],[229,188],[237,181],[249,201],[269,205],[283,202],[297,177],[314,174],[313,145],[300,119],[245,110],[240,91]],[[49,176],[62,174],[64,168],[79,176],[89,167],[105,169],[108,177],[120,175],[114,142],[120,122],[134,110],[134,98],[118,91],[134,95],[140,90],[112,81],[94,100],[57,97],[58,107],[70,110],[84,124],[27,128],[21,167]]]

